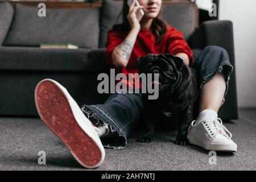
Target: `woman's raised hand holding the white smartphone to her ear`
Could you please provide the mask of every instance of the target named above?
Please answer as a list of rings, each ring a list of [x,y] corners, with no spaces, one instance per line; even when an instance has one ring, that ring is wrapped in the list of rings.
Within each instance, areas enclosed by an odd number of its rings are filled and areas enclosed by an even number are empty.
[[[143,6],[135,6],[135,0],[133,0],[133,2],[131,3],[130,9],[129,9],[129,13],[127,15],[127,19],[130,23],[131,29],[136,29],[136,30],[141,29],[141,24],[139,24],[139,21],[136,17],[136,12],[139,9],[143,9]]]

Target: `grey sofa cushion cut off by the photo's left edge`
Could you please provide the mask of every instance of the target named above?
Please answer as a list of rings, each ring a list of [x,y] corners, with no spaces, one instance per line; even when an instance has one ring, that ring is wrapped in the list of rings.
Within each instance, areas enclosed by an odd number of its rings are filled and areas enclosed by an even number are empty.
[[[5,40],[5,36],[11,25],[11,20],[13,19],[13,6],[9,2],[0,3],[0,46]]]

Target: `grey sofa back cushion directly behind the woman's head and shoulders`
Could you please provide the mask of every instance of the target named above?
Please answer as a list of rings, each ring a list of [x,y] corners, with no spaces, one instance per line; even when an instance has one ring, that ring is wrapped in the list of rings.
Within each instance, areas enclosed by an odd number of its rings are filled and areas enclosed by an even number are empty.
[[[104,0],[101,12],[100,47],[105,47],[108,30],[122,22],[122,1]],[[119,15],[119,16],[118,16]],[[163,5],[162,18],[172,27],[183,32],[184,38],[195,30],[196,8],[193,3]]]

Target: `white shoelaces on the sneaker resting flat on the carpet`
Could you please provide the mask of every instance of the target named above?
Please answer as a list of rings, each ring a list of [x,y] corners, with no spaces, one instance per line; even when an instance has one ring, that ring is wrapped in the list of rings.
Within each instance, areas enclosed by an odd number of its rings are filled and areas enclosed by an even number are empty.
[[[204,125],[207,127],[207,129],[210,131],[211,135],[214,134],[221,134],[225,137],[231,139],[232,134],[229,132],[228,129],[222,124],[222,120],[220,118],[215,119],[214,121],[203,121]],[[226,134],[228,133],[228,134]]]

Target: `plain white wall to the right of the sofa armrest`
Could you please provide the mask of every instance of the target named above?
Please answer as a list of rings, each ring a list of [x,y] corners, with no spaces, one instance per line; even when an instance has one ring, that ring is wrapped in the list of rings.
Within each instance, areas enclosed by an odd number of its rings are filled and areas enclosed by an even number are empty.
[[[256,107],[256,1],[220,0],[220,20],[234,27],[239,107]]]

